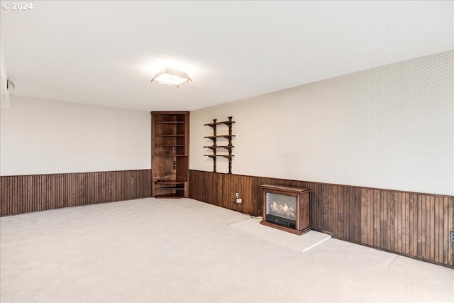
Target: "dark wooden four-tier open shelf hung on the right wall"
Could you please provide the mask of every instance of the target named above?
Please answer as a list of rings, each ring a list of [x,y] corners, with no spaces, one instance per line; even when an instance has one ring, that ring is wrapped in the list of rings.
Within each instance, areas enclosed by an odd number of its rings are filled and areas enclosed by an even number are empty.
[[[234,135],[232,135],[232,124],[235,123],[235,121],[232,121],[232,118],[233,117],[228,117],[228,121],[221,121],[221,122],[216,122],[217,119],[213,119],[213,123],[204,124],[204,126],[210,126],[211,128],[213,128],[213,136],[204,137],[204,138],[209,138],[209,139],[211,139],[211,141],[213,141],[213,145],[204,146],[204,148],[209,148],[213,151],[212,155],[204,155],[205,157],[209,157],[209,158],[213,159],[213,172],[216,172],[216,158],[223,157],[223,158],[228,159],[228,173],[229,174],[232,173],[232,158],[234,157],[234,155],[232,155],[232,148],[235,147],[232,145],[232,139],[235,137]],[[221,124],[228,126],[228,135],[217,135],[216,134],[216,126],[221,125]],[[218,138],[226,138],[228,140],[228,145],[216,145]],[[216,150],[218,148],[224,148],[224,149],[228,150],[228,155],[218,155],[216,153]]]

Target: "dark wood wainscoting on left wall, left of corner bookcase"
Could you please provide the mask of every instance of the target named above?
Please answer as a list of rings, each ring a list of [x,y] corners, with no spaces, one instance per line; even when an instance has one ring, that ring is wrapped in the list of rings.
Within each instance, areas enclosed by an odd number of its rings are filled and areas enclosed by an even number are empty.
[[[151,170],[0,177],[0,216],[151,197]]]

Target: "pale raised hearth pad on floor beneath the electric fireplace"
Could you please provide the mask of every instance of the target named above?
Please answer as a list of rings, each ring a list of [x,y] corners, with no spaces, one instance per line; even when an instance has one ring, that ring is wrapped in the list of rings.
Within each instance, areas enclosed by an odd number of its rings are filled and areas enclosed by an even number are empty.
[[[304,253],[331,238],[331,236],[328,236],[326,233],[319,233],[318,231],[308,231],[301,236],[295,235],[294,233],[262,225],[260,224],[261,220],[262,219],[248,219],[230,224],[230,226],[243,233],[248,233],[251,236],[270,241],[279,246],[292,248],[301,253]]]

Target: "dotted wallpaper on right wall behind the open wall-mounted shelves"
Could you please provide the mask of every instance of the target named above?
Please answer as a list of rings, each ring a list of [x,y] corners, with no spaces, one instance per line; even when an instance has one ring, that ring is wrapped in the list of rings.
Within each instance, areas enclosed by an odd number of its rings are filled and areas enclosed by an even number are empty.
[[[454,195],[453,69],[450,50],[192,111],[190,168],[233,116],[234,174]]]

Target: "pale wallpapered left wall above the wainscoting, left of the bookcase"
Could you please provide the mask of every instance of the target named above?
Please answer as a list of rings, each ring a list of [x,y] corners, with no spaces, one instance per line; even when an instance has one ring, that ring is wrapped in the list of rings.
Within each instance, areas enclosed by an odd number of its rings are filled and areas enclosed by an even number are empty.
[[[150,169],[150,112],[11,96],[0,175]]]

